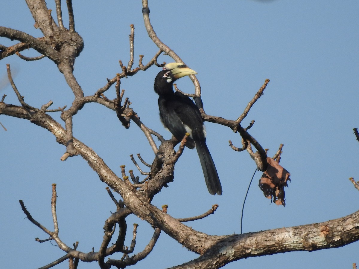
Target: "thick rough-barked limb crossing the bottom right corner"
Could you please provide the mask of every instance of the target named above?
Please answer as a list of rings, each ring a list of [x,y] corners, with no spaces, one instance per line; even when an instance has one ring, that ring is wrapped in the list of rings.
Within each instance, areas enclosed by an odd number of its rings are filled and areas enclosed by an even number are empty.
[[[321,223],[228,235],[199,258],[173,267],[220,268],[232,261],[286,253],[336,248],[359,240],[359,211]]]

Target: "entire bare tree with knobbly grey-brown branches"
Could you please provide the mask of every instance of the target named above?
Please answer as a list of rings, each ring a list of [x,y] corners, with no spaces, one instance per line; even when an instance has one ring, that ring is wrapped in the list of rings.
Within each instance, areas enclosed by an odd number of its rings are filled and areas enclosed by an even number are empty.
[[[139,70],[145,71],[152,65],[163,66],[163,64],[158,64],[157,62],[158,57],[162,52],[168,54],[176,62],[183,63],[182,59],[157,37],[150,23],[148,1],[142,0],[144,24],[151,40],[158,46],[159,51],[146,65],[142,63],[144,56],[140,55],[139,67],[132,69],[134,64],[135,32],[134,25],[131,24],[131,32],[129,36],[130,60],[127,67],[123,65],[122,61],[119,61],[121,73],[117,74],[112,79],[107,79],[107,84],[98,89],[92,96],[84,96],[84,92],[73,74],[75,59],[79,56],[79,53],[83,49],[83,40],[81,36],[75,32],[74,13],[71,0],[66,0],[69,14],[69,30],[67,30],[63,25],[61,0],[55,0],[56,16],[59,25],[56,25],[55,20],[52,18],[51,10],[47,8],[44,0],[26,1],[35,20],[35,26],[41,29],[44,36],[41,38],[34,38],[27,33],[15,29],[0,27],[0,37],[15,39],[21,42],[14,44],[11,47],[0,46],[0,59],[13,55],[14,53],[26,61],[39,60],[43,57],[50,58],[56,63],[59,71],[64,75],[67,84],[74,94],[74,100],[71,107],[67,110],[65,110],[66,106],[59,109],[48,109],[52,105],[52,101],[42,105],[40,109],[31,107],[29,104],[24,102],[24,97],[21,96],[19,90],[15,86],[11,76],[10,67],[8,66],[9,81],[21,106],[5,104],[4,95],[2,101],[0,102],[0,114],[27,119],[28,121],[50,131],[56,137],[56,141],[58,143],[66,146],[66,152],[61,157],[62,160],[66,160],[67,157],[77,154],[80,155],[98,174],[99,179],[106,183],[109,188],[112,188],[114,192],[120,194],[123,199],[123,201],[117,201],[110,189],[107,188],[109,196],[116,205],[116,212],[111,213],[111,216],[109,216],[105,221],[103,227],[104,236],[97,253],[94,252],[94,249],[92,252],[83,253],[77,250],[78,242],[73,244],[73,247],[69,247],[60,239],[60,228],[56,213],[56,184],[52,185],[51,198],[51,212],[54,231],[48,230],[45,226],[34,220],[29,211],[25,208],[22,200],[20,200],[19,202],[22,210],[29,221],[50,236],[49,239],[37,239],[37,241],[45,242],[54,240],[60,249],[67,253],[62,258],[44,266],[43,268],[50,268],[66,259],[69,259],[70,269],[77,268],[79,260],[98,261],[100,268],[103,269],[108,269],[111,266],[125,268],[126,266],[136,264],[139,260],[142,260],[149,255],[149,253],[153,250],[161,231],[167,233],[167,235],[171,236],[188,250],[201,255],[199,258],[177,266],[176,268],[219,268],[231,261],[250,256],[270,255],[298,250],[312,251],[338,247],[359,240],[359,212],[355,212],[337,220],[314,223],[311,225],[280,228],[242,235],[211,236],[206,233],[196,231],[182,222],[194,221],[207,217],[215,212],[218,205],[214,205],[208,212],[201,214],[200,216],[180,219],[173,218],[167,214],[167,207],[164,207],[161,210],[152,205],[151,200],[154,196],[159,193],[164,186],[167,186],[169,182],[173,181],[174,164],[181,156],[189,134],[186,134],[182,141],[177,141],[175,138],[171,138],[171,140],[164,140],[159,133],[145,126],[145,124],[140,120],[139,115],[137,115],[134,109],[132,109],[129,98],[124,98],[125,91],[120,89],[121,78],[133,76],[137,74]],[[20,54],[20,52],[26,48],[33,48],[41,53],[42,56],[25,57]],[[267,151],[248,133],[248,129],[253,126],[254,121],[252,121],[247,128],[243,128],[241,126],[241,122],[247,116],[253,104],[263,94],[269,80],[265,80],[264,84],[244,109],[244,112],[237,118],[236,121],[234,121],[207,115],[203,111],[199,81],[194,75],[191,75],[190,77],[195,86],[195,94],[183,94],[194,98],[205,121],[222,124],[223,126],[231,128],[234,132],[239,132],[242,137],[242,148],[235,147],[233,143],[229,141],[230,146],[236,151],[247,150],[253,160],[255,160],[258,169],[265,171],[267,169]],[[104,92],[109,90],[109,88],[115,83],[116,99],[110,100],[106,98]],[[180,91],[177,89],[176,85],[175,89]],[[150,165],[145,162],[140,155],[137,156],[145,166],[150,167],[150,172],[146,173],[141,171],[139,165],[131,155],[131,159],[139,169],[140,173],[142,175],[148,175],[143,181],[140,182],[139,177],[135,177],[132,170],[128,171],[130,175],[127,176],[124,165],[121,166],[122,178],[120,178],[90,147],[74,137],[73,117],[84,107],[85,104],[91,102],[95,102],[108,109],[115,110],[118,119],[121,121],[123,126],[125,126],[125,128],[130,127],[130,122],[132,120],[144,133],[155,154],[154,161]],[[59,122],[50,117],[50,115],[47,114],[48,112],[61,112],[61,119],[65,122],[65,129]],[[354,132],[359,141],[357,129],[354,129]],[[156,136],[161,142],[159,147],[156,145],[153,136]],[[174,146],[178,143],[180,143],[180,147],[176,152],[174,150]],[[252,146],[256,148],[257,152],[253,152]],[[280,161],[282,147],[283,145],[280,145],[274,156],[277,162]],[[134,184],[130,182],[129,177],[131,177]],[[355,185],[355,188],[359,189],[358,183],[356,183],[352,178],[350,180]],[[143,249],[143,251],[132,256],[129,254],[134,253],[135,250],[137,224],[135,223],[133,226],[130,246],[125,246],[127,232],[126,217],[130,214],[134,214],[142,220],[145,220],[154,228],[154,233],[152,238],[149,240],[149,244]],[[118,231],[116,230],[116,226],[118,227]],[[115,238],[116,242],[114,244],[110,244],[115,233],[117,235],[117,239]],[[275,240],[273,240],[273,238],[275,238]],[[228,255],[226,251],[223,251],[224,249],[230,249],[231,254]],[[123,254],[122,258],[116,260],[108,259],[105,262],[105,258],[107,256],[118,252]]]

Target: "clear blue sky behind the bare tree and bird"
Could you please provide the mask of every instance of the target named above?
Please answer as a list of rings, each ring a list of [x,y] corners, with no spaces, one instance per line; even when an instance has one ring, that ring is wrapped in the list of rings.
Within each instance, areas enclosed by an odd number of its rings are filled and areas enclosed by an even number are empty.
[[[24,1],[3,2],[1,26],[41,36]],[[55,10],[52,1],[48,2]],[[135,63],[140,54],[145,55],[144,62],[149,61],[158,49],[144,28],[141,1],[84,3],[74,1],[75,27],[85,42],[75,75],[85,95],[92,95],[106,84],[107,77],[120,72],[118,60],[127,64],[130,24],[135,25]],[[358,1],[150,1],[149,6],[159,38],[199,73],[208,114],[237,119],[265,79],[270,79],[243,125],[256,121],[250,133],[270,148],[270,156],[284,144],[281,165],[290,171],[292,182],[285,190],[286,207],[279,207],[270,204],[258,189],[260,173],[256,174],[245,207],[243,232],[322,222],[358,210],[359,193],[348,180],[351,176],[359,180],[359,143],[353,135],[353,128],[359,127]],[[5,39],[0,43],[14,44]],[[33,51],[23,54],[38,55]],[[159,61],[171,59],[161,56]],[[40,107],[49,100],[53,108],[71,105],[73,94],[50,60],[25,62],[12,56],[0,62],[1,76],[6,74],[6,63],[17,73],[15,83],[30,105]],[[159,71],[151,67],[123,79],[121,87],[141,120],[170,138],[159,121],[158,97],[153,91]],[[187,77],[178,81],[178,86],[194,91]],[[1,90],[3,94],[8,95],[6,103],[18,104],[9,85]],[[115,89],[106,95],[114,98]],[[52,116],[60,119],[59,113]],[[38,268],[65,254],[50,242],[34,240],[47,236],[25,218],[18,203],[24,200],[32,216],[52,230],[52,183],[57,183],[61,239],[69,246],[79,241],[78,249],[83,252],[92,247],[98,251],[104,221],[116,209],[106,185],[81,157],[61,162],[65,147],[45,129],[3,115],[0,121],[8,129],[0,130],[1,266]],[[242,202],[255,163],[247,152],[235,152],[228,146],[228,140],[240,145],[238,134],[213,123],[206,126],[223,195],[208,194],[197,153],[186,149],[176,165],[174,182],[156,195],[153,204],[168,204],[174,217],[202,214],[212,204],[219,204],[214,215],[188,225],[213,235],[239,233]],[[136,171],[130,154],[153,160],[153,151],[139,128],[132,124],[126,130],[115,112],[98,104],[87,105],[74,117],[74,136],[118,174],[120,165]],[[139,224],[137,253],[148,244],[153,230],[146,222],[129,217],[127,245],[132,223]],[[359,263],[358,247],[356,242],[339,249],[248,258],[225,268],[352,268]],[[131,268],[171,267],[196,257],[162,233],[149,257]],[[96,263],[79,265],[97,267]],[[68,264],[56,268],[68,268]]]

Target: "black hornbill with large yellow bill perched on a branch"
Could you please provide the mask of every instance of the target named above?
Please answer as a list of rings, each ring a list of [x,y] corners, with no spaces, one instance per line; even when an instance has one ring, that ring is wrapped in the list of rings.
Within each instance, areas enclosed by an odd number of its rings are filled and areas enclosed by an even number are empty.
[[[197,72],[180,63],[168,63],[163,69],[154,83],[154,90],[159,95],[161,121],[178,141],[181,141],[186,133],[190,133],[186,146],[197,149],[208,191],[213,195],[221,195],[222,186],[206,145],[206,129],[201,113],[188,96],[173,91],[174,81]]]

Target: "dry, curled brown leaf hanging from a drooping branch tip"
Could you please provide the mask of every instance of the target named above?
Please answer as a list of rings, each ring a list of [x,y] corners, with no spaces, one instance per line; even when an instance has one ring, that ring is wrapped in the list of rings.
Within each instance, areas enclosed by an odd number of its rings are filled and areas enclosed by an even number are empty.
[[[290,173],[270,157],[267,157],[267,162],[268,168],[259,180],[259,188],[265,197],[285,206],[284,187],[288,187]]]

